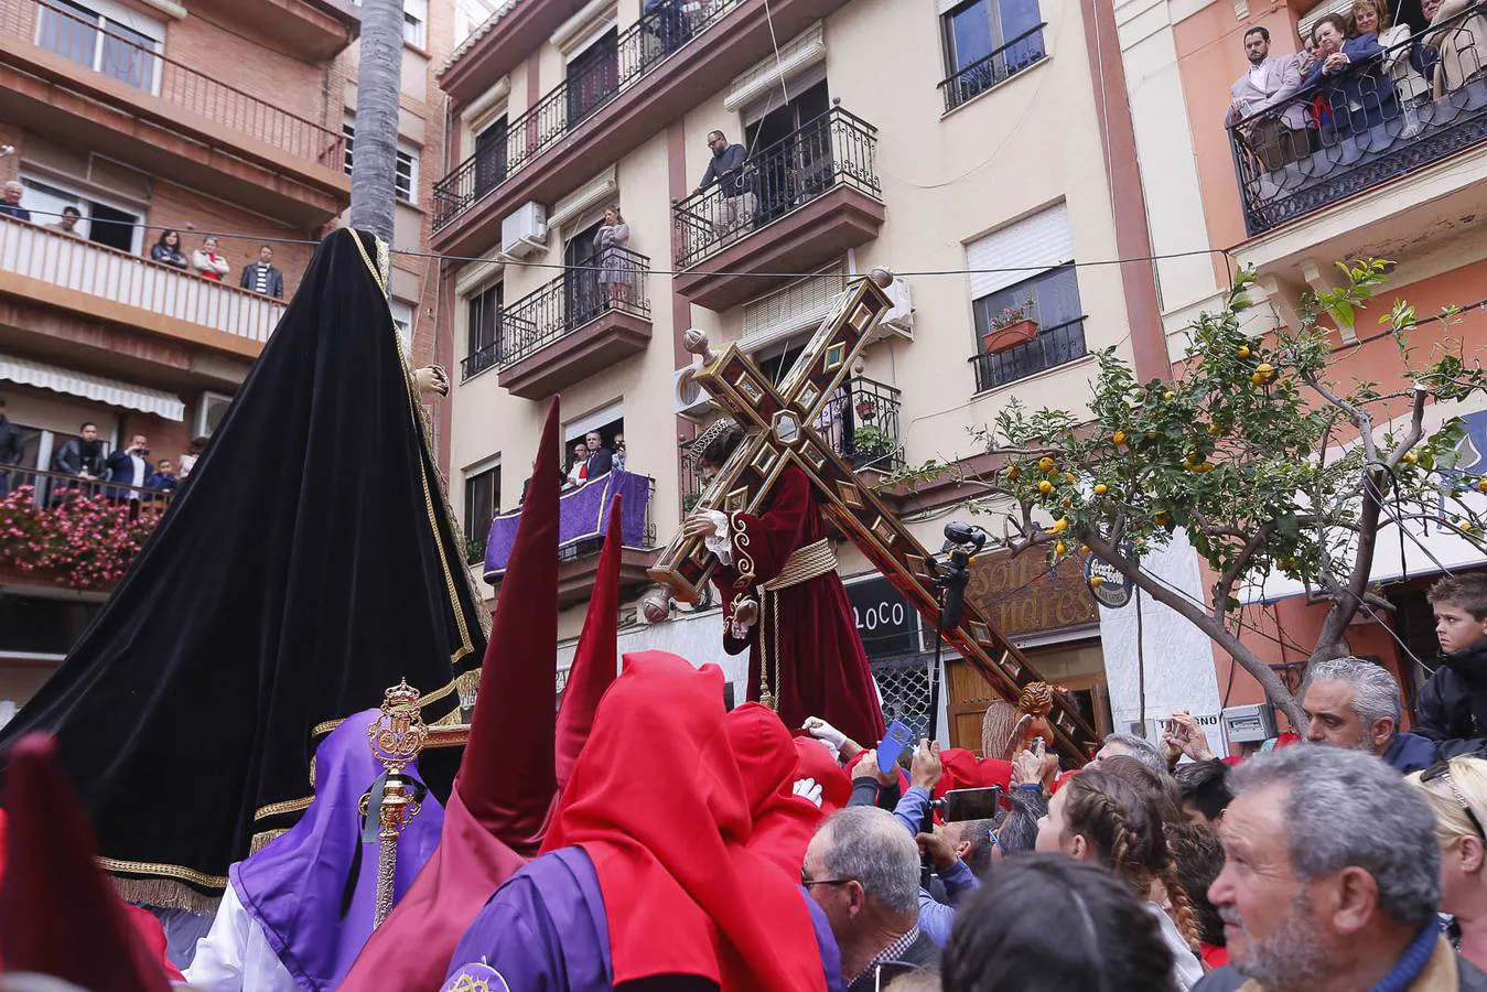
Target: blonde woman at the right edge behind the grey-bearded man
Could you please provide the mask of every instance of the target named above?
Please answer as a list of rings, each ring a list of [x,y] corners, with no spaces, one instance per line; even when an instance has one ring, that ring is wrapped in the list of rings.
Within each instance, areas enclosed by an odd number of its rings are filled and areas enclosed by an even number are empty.
[[[1441,845],[1441,912],[1456,918],[1457,952],[1487,967],[1487,760],[1459,757],[1414,772],[1407,782],[1425,793]]]

